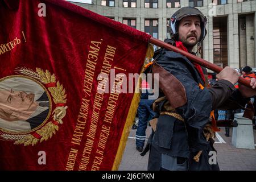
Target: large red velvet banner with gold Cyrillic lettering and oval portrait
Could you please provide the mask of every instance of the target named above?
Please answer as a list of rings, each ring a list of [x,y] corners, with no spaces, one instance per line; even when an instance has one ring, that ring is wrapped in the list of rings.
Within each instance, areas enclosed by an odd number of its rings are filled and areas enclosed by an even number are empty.
[[[0,22],[0,169],[117,169],[150,35],[57,0],[0,0]]]

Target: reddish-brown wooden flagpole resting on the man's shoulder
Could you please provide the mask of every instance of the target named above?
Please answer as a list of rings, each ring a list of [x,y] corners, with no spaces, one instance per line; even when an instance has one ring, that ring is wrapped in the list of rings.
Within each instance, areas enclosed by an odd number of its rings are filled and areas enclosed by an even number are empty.
[[[205,61],[204,59],[201,59],[200,57],[196,57],[195,55],[192,55],[191,53],[188,53],[186,51],[183,51],[175,46],[172,46],[168,43],[165,43],[161,40],[155,39],[153,37],[150,38],[150,43],[154,44],[155,46],[159,46],[159,47],[163,47],[166,48],[170,51],[174,51],[174,52],[178,52],[181,53],[181,55],[188,57],[189,60],[194,61],[197,64],[200,64],[201,66],[208,68],[216,73],[220,73],[222,71],[223,68],[218,67],[217,65],[210,63],[208,61]],[[240,84],[243,84],[249,88],[251,88],[250,86],[250,80],[246,80],[243,77],[239,77],[238,82],[240,82]]]

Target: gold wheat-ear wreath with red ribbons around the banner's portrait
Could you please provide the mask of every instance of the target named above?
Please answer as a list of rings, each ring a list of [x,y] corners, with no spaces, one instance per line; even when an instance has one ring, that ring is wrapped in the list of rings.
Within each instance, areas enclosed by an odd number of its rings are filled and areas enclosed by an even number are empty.
[[[40,142],[43,142],[44,140],[52,138],[53,134],[56,134],[56,131],[59,130],[59,125],[63,124],[62,119],[65,117],[66,110],[68,108],[68,106],[64,106],[64,104],[66,104],[67,102],[67,94],[65,94],[65,89],[63,88],[63,85],[61,85],[59,81],[56,82],[55,75],[51,74],[48,70],[44,72],[42,69],[36,68],[35,72],[32,69],[18,67],[15,69],[15,72],[19,75],[32,77],[35,80],[41,82],[42,84],[48,84],[48,90],[51,93],[53,102],[56,105],[61,105],[56,106],[56,108],[53,110],[52,120],[50,122],[47,122],[43,127],[40,127],[40,129],[32,131],[32,133],[21,135],[1,133],[0,135],[2,140],[13,140],[14,144],[34,146],[39,142],[39,140]]]

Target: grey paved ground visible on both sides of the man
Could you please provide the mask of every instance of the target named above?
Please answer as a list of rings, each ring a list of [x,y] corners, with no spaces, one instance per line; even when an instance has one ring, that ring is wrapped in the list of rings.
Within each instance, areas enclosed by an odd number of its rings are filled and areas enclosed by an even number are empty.
[[[141,156],[135,147],[136,130],[130,131],[122,156],[119,171],[146,171],[148,154]],[[147,127],[146,136],[149,137],[151,127]],[[233,146],[232,129],[230,137],[225,137],[225,128],[218,133],[214,147],[217,150],[217,161],[221,171],[256,171],[256,150],[241,149]],[[147,140],[145,144],[147,143]],[[256,130],[254,130],[254,143],[256,143]]]

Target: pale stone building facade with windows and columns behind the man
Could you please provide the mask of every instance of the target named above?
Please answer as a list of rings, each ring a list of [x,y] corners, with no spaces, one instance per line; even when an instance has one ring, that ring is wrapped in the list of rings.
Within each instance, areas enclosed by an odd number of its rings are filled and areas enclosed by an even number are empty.
[[[159,40],[170,36],[167,22],[176,10],[195,6],[208,19],[208,34],[199,56],[222,67],[256,67],[256,0],[92,0],[91,4],[76,5]]]

